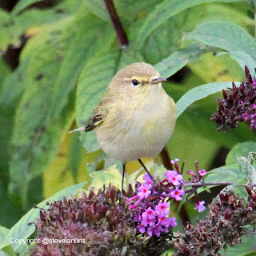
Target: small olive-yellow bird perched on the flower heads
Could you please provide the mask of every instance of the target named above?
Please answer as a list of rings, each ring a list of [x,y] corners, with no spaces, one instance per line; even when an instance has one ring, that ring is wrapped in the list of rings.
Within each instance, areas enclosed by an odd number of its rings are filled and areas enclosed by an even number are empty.
[[[122,188],[126,162],[159,154],[174,131],[177,118],[174,100],[162,88],[159,73],[145,62],[131,64],[112,78],[102,101],[86,126],[75,131],[95,130],[106,154],[122,162]]]

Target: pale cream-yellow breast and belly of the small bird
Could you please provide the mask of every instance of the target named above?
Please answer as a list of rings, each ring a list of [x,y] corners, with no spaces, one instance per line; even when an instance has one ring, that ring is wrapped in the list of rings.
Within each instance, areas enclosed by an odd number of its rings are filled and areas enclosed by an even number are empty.
[[[173,133],[176,108],[173,99],[159,87],[142,102],[138,98],[113,109],[107,121],[98,127],[98,142],[107,154],[127,162],[161,152]]]

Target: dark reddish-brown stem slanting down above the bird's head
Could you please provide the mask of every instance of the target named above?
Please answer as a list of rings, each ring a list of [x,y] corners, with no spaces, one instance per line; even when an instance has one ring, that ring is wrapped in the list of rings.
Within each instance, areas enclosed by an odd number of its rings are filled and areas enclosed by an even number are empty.
[[[126,32],[122,28],[122,24],[118,17],[118,13],[114,7],[113,0],[104,0],[106,4],[106,9],[110,15],[111,22],[113,23],[115,33],[118,36],[118,40],[120,42],[121,48],[124,49],[128,46],[128,38],[126,37]]]

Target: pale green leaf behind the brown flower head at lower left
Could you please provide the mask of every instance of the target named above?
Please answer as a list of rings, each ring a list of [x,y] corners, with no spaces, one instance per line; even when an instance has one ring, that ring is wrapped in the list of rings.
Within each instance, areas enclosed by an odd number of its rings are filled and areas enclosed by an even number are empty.
[[[83,186],[86,185],[86,182],[82,182],[79,184],[76,184],[74,186],[70,186],[64,190],[59,191],[57,194],[54,194],[52,197],[44,200],[43,202],[38,203],[38,208],[46,208],[46,202],[52,202],[61,200],[62,197],[69,198],[70,196],[78,193],[78,190],[82,189]],[[29,223],[36,222],[36,220],[39,218],[39,212],[40,209],[35,208],[31,209],[28,213],[26,213],[9,231],[8,234],[6,234],[6,238],[2,244],[0,244],[0,249],[10,245],[10,239],[26,239],[31,234],[33,234],[35,230],[34,225],[28,225]],[[19,244],[14,243],[13,245],[14,250],[16,251],[18,249]]]

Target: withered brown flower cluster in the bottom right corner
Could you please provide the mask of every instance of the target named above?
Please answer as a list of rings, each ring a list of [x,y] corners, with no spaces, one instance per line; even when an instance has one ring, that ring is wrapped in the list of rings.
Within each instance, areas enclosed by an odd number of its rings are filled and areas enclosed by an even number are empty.
[[[234,195],[233,191],[219,194],[210,204],[210,212],[196,226],[188,224],[185,234],[174,241],[174,256],[220,255],[227,245],[242,242],[242,236],[253,236],[256,225],[256,191],[246,186],[249,198]],[[200,207],[200,206],[198,206]]]

